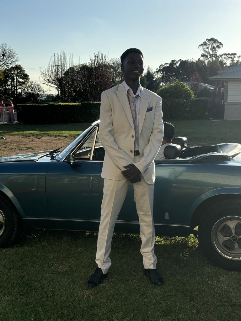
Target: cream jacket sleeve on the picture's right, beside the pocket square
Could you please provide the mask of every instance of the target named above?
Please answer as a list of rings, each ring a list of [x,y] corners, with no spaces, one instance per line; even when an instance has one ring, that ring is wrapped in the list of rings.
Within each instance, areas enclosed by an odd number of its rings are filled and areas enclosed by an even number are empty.
[[[162,99],[158,100],[155,108],[154,125],[151,132],[149,144],[144,149],[144,155],[135,163],[135,166],[143,174],[151,165],[158,153],[164,135],[164,125],[162,120]]]

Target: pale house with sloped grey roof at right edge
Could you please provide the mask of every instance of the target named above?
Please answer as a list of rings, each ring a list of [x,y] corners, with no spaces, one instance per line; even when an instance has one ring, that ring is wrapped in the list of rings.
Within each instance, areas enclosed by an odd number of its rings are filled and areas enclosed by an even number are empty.
[[[224,101],[224,119],[241,120],[241,65],[220,70],[209,79],[216,81],[216,99]]]

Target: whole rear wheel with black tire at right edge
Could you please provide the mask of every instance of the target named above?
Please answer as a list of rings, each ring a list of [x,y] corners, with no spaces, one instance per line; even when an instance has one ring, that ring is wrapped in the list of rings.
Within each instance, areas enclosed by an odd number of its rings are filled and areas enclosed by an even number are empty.
[[[201,218],[198,240],[213,265],[241,271],[241,201],[230,199],[211,206]]]

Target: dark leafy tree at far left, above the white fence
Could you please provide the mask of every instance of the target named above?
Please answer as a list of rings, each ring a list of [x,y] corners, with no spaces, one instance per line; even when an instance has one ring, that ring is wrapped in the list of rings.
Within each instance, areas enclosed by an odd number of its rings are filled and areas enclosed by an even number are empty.
[[[19,90],[22,90],[28,82],[29,75],[25,73],[21,65],[15,65],[4,70],[5,90],[8,90],[8,94],[13,97],[13,101],[21,96]]]

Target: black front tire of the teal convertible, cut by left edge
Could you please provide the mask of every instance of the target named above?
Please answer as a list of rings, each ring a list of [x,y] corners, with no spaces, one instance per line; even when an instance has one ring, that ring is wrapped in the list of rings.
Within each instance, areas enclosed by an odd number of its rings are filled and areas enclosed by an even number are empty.
[[[0,196],[0,247],[13,243],[20,230],[20,218],[13,204]]]

